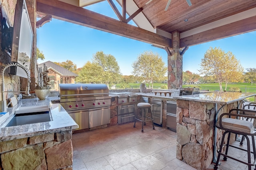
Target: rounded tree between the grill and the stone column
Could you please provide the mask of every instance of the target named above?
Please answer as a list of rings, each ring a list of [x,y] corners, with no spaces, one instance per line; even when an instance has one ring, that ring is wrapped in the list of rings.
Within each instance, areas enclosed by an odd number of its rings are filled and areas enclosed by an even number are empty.
[[[137,60],[132,63],[132,74],[134,76],[142,77],[146,83],[152,84],[153,82],[164,80],[164,76],[167,73],[167,67],[165,66],[162,57],[152,51],[144,51],[137,57]]]

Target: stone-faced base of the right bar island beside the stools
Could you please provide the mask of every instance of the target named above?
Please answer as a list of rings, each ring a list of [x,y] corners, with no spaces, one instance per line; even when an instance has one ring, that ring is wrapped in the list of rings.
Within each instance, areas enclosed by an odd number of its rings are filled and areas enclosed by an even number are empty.
[[[177,100],[176,158],[198,170],[208,168],[213,161],[215,105],[206,102]],[[218,110],[220,109],[218,117],[237,106],[237,103],[224,107],[217,104]],[[217,148],[220,146],[222,134],[223,131],[218,129]],[[234,135],[232,140],[234,141]]]

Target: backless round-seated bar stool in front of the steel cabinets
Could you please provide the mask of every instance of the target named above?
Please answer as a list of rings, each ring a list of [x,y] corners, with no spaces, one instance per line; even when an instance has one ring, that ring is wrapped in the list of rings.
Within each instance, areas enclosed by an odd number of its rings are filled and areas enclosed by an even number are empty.
[[[149,113],[150,113],[151,117],[146,116],[146,109],[149,110]],[[140,115],[138,116],[138,111],[139,110],[140,110]],[[135,121],[134,121],[133,127],[135,127],[135,124],[136,124],[137,120],[142,121],[141,132],[143,132],[143,125],[146,125],[146,121],[152,121],[153,130],[155,129],[154,122],[153,122],[154,119],[153,119],[152,111],[151,111],[151,104],[144,103],[144,102],[137,104],[137,111],[136,111]]]

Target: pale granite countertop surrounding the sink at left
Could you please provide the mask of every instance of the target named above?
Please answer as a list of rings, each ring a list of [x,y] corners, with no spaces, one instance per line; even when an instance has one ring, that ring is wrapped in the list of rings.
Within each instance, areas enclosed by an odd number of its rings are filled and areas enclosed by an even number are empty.
[[[52,104],[50,102],[50,100],[58,99],[58,97],[48,97],[45,100],[39,100],[38,98],[22,99],[18,101],[16,106],[9,107],[7,111],[12,115],[18,107],[48,105],[50,106],[50,112],[53,120],[28,125],[2,127],[0,128],[0,141],[9,141],[78,128],[76,122],[60,104]]]

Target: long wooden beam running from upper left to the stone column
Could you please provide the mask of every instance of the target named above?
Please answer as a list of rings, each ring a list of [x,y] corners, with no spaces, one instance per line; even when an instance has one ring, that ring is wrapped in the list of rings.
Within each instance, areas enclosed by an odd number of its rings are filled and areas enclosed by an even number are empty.
[[[171,39],[59,0],[36,0],[36,10],[53,18],[114,33],[158,47],[172,47]]]

